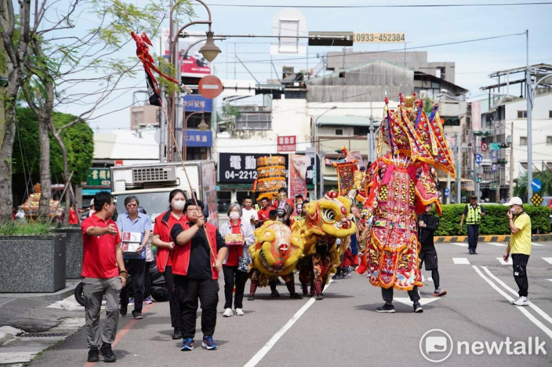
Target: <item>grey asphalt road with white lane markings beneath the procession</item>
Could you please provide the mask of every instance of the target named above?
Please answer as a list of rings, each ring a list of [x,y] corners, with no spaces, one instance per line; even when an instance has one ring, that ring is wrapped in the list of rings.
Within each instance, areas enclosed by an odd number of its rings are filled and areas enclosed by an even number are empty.
[[[480,243],[479,254],[469,255],[467,247],[437,244],[441,287],[448,294],[433,297],[431,272],[424,271],[426,286],[420,289],[424,313],[413,313],[406,292],[400,291],[395,291],[397,313],[375,313],[383,304],[380,289],[356,273],[331,282],[326,299],[316,302],[310,297],[290,300],[284,284],[276,299],[269,297],[268,288],[259,289],[255,301],[244,300],[243,317],[222,317],[221,289],[215,333],[219,350],[201,349],[198,319],[195,350],[181,352],[181,342],[170,339],[168,304],[154,303],[142,320],[121,317],[113,348],[117,366],[432,365],[421,350],[433,360],[446,357],[439,363],[444,366],[550,366],[552,242],[539,244],[533,247],[528,266],[531,307],[509,304],[517,299],[517,286],[511,265],[496,259],[502,258],[504,246]],[[466,260],[469,264],[462,264]],[[221,287],[223,283],[220,280]],[[421,341],[433,329],[451,339],[432,331]],[[500,353],[487,350],[493,342],[502,345]],[[79,331],[42,353],[31,366],[84,366],[86,355],[86,335]]]

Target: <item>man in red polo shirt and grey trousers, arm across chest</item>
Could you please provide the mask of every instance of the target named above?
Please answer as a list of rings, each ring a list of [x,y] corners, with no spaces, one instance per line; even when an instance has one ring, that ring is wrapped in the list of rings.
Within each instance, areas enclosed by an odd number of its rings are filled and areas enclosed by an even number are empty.
[[[115,213],[113,196],[100,191],[94,197],[96,212],[81,224],[83,256],[82,273],[84,311],[86,314],[86,336],[88,338],[88,361],[117,360],[111,344],[117,334],[119,322],[119,293],[126,284],[121,238],[117,224],[111,219]],[[103,295],[106,296],[106,319],[100,335],[99,313]],[[101,347],[98,350],[101,337]]]

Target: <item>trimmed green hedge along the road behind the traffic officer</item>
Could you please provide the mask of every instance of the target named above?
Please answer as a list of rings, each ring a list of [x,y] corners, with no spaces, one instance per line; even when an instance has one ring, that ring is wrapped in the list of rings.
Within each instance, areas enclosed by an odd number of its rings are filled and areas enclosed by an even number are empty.
[[[464,213],[466,204],[442,205],[442,215],[439,218],[439,227],[435,235],[467,235],[466,220],[462,228],[459,227],[460,218]],[[486,216],[482,217],[479,227],[480,235],[509,235],[511,233],[506,217],[507,207],[503,205],[482,205]],[[550,209],[547,207],[534,207],[524,205],[523,209],[531,217],[533,233],[550,232]]]

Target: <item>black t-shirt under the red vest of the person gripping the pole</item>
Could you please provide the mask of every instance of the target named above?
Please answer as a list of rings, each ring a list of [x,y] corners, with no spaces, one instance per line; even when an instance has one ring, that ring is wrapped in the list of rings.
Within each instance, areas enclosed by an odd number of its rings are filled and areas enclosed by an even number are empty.
[[[177,223],[172,227],[170,235],[173,240],[176,240],[177,236],[183,231],[181,224]],[[213,277],[211,270],[213,264],[211,264],[211,254],[208,246],[205,229],[201,227],[192,238],[190,264],[188,265],[188,275],[186,275],[188,278],[205,280]],[[226,244],[217,230],[217,253],[223,247],[226,247]]]

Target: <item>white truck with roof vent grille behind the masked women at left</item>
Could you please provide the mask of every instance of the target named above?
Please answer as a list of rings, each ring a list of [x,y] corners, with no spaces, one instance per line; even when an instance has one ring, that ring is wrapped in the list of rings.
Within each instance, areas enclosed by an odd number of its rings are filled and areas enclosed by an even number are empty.
[[[181,162],[150,163],[111,167],[111,193],[115,196],[117,213],[124,213],[124,200],[136,196],[152,222],[169,209],[168,195],[173,189],[181,189],[186,198],[192,193],[204,202],[208,222],[218,226],[217,174],[214,160],[188,160],[184,162],[190,184],[186,180]]]

